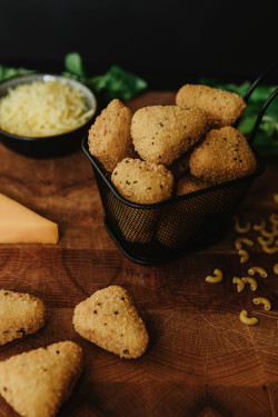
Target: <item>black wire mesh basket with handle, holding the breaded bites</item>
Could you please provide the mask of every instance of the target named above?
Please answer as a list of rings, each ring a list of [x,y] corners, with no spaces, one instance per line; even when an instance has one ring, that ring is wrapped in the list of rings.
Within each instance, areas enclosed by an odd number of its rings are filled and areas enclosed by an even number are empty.
[[[272,68],[254,82],[246,100]],[[262,106],[250,135],[251,140],[277,92]],[[111,182],[111,175],[89,152],[87,137],[83,138],[82,149],[92,165],[106,214],[107,231],[129,259],[145,265],[160,264],[219,241],[252,181],[265,169],[262,157],[252,148],[257,160],[254,173],[155,205],[141,205],[125,199],[118,192]]]

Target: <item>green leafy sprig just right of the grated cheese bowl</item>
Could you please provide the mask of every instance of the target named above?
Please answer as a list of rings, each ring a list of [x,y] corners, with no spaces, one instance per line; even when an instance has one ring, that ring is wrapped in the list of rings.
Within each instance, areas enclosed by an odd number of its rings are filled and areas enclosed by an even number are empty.
[[[103,76],[87,77],[82,59],[77,52],[66,56],[64,67],[64,76],[80,80],[106,101],[115,98],[130,100],[148,87],[145,80],[118,66],[112,66]]]

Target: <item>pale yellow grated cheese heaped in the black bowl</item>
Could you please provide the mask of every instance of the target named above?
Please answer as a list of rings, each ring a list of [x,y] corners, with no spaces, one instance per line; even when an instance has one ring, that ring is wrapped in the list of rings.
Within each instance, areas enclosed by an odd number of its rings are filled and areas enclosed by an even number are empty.
[[[36,81],[0,99],[0,129],[31,138],[56,136],[85,125],[93,112],[83,92],[66,81]]]

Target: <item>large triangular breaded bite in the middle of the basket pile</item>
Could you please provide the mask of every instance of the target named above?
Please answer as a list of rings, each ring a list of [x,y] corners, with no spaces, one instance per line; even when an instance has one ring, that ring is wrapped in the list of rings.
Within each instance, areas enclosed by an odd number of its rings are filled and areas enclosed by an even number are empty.
[[[207,113],[201,109],[150,106],[133,115],[131,137],[142,159],[170,165],[206,133],[207,126]]]

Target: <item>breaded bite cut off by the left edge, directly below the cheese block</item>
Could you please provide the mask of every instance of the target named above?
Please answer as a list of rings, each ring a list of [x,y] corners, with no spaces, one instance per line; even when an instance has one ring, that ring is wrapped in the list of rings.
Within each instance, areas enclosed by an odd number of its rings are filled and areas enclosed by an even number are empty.
[[[0,290],[0,345],[36,332],[44,320],[46,308],[39,298]]]

